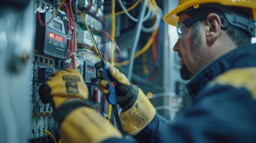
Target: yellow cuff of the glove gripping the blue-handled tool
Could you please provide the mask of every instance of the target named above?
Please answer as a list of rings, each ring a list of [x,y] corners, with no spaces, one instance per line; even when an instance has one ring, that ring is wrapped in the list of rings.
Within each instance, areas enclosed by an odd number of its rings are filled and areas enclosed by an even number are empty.
[[[156,110],[146,95],[139,89],[135,104],[120,114],[122,127],[129,135],[137,135],[155,117]]]

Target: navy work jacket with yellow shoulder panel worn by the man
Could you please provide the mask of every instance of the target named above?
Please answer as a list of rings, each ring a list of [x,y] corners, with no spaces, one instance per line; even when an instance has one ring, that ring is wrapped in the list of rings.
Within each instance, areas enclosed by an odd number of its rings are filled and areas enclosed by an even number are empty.
[[[213,61],[186,86],[195,104],[175,123],[156,114],[138,142],[256,142],[256,43]]]

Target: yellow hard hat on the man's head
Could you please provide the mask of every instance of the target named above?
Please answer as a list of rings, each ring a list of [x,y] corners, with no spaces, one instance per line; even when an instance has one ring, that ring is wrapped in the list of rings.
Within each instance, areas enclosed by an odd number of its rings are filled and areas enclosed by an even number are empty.
[[[166,14],[163,20],[172,26],[177,26],[179,19],[177,13],[180,13],[189,7],[199,8],[201,4],[209,3],[218,3],[224,6],[251,8],[254,20],[256,20],[256,0],[180,0],[178,7]]]

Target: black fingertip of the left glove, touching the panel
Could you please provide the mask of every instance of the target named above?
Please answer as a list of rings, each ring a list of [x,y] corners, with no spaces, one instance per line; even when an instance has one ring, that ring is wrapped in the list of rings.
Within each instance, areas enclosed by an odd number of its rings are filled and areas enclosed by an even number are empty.
[[[43,83],[41,86],[39,86],[39,97],[41,101],[46,104],[50,101],[51,98],[51,88],[47,85],[47,83]]]

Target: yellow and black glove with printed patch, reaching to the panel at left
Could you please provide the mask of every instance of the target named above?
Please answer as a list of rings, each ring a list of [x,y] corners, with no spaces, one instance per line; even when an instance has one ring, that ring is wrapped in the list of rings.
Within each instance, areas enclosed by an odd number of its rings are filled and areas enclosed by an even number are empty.
[[[79,71],[57,71],[39,87],[42,102],[50,102],[54,118],[61,125],[62,142],[101,142],[122,138],[113,125],[87,101],[88,89]]]

